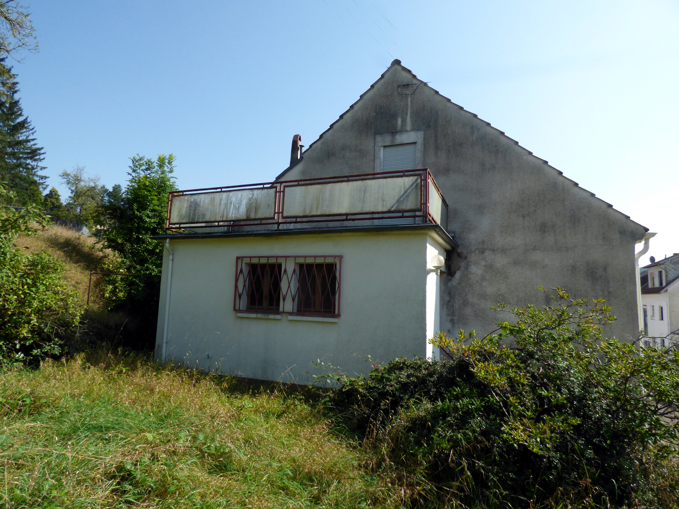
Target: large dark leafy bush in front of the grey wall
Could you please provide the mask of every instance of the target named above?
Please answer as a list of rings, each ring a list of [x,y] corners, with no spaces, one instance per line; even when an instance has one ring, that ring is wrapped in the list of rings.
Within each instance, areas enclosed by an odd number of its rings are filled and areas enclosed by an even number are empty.
[[[405,497],[461,507],[675,507],[679,358],[606,339],[602,299],[512,309],[329,397]],[[502,309],[500,305],[498,309]]]

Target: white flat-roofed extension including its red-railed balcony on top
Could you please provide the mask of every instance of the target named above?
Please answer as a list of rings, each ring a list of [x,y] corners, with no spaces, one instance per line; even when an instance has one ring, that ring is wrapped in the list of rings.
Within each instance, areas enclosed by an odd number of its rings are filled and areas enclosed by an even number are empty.
[[[295,383],[317,360],[437,358],[440,280],[464,257],[446,218],[426,169],[172,195],[158,357]]]

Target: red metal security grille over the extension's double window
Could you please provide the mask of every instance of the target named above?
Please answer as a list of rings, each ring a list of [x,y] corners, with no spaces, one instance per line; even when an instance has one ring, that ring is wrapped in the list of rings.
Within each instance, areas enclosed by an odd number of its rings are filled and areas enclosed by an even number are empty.
[[[342,256],[237,257],[234,311],[339,316]]]

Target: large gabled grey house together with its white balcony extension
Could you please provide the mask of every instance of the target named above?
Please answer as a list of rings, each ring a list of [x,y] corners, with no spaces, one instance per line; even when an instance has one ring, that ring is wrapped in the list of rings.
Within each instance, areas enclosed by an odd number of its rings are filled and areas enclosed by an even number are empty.
[[[272,182],[170,197],[157,355],[308,383],[320,360],[441,355],[436,331],[488,333],[538,285],[604,297],[640,329],[646,228],[394,60]],[[647,241],[646,237],[646,241]],[[646,242],[646,246],[648,242]]]

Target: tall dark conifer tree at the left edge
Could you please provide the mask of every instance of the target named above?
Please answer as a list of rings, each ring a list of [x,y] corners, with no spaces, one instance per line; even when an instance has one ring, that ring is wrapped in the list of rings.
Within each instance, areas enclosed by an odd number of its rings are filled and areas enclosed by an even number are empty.
[[[40,172],[45,152],[38,147],[35,128],[18,98],[18,81],[0,58],[0,182],[15,195],[14,205],[41,203],[46,176]]]

